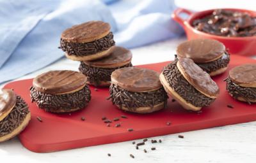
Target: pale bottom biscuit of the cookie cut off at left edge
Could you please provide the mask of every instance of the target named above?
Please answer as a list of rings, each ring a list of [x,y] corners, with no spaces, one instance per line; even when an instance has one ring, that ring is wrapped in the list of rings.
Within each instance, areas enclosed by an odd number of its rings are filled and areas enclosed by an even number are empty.
[[[28,115],[26,115],[26,118],[24,118],[22,123],[19,125],[19,127],[14,129],[11,133],[0,137],[0,142],[7,141],[9,139],[12,139],[14,136],[17,136],[20,132],[22,132],[26,128],[30,119],[31,119],[31,113],[29,112]]]

